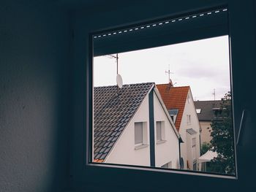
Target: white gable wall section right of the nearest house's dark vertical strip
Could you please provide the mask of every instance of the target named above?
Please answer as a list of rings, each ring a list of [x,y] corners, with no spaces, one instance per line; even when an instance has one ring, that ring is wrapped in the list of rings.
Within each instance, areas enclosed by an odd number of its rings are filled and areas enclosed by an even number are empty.
[[[165,122],[165,140],[157,144],[157,121]],[[178,137],[167,118],[167,114],[162,109],[161,103],[154,93],[154,128],[155,128],[155,154],[156,166],[160,167],[172,161],[172,169],[179,168],[179,152],[178,152]]]

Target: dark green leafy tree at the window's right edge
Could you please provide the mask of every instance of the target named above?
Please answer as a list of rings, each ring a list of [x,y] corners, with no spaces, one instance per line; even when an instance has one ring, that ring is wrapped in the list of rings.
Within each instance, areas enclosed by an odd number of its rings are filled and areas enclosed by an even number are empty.
[[[211,160],[211,171],[226,174],[235,173],[233,120],[231,94],[222,99],[220,113],[211,120],[211,150],[217,152],[217,158]]]

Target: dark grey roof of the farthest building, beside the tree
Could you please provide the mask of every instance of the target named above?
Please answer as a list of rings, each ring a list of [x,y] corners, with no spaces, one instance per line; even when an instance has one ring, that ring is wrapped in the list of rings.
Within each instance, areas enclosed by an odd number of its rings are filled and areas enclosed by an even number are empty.
[[[194,101],[195,109],[201,109],[200,113],[197,113],[198,120],[211,121],[214,118],[214,109],[221,107],[222,100],[215,101]]]

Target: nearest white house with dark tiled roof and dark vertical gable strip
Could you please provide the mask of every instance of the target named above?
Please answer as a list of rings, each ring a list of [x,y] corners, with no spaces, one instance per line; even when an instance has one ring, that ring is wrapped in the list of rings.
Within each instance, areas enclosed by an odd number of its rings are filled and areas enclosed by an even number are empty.
[[[153,82],[94,88],[94,162],[178,169],[179,141]]]

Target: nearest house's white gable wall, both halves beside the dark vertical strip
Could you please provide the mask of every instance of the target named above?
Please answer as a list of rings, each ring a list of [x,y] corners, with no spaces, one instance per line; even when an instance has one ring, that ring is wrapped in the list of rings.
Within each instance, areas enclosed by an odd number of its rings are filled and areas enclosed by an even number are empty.
[[[157,121],[165,121],[165,140],[161,144],[157,144]],[[135,122],[146,122],[147,127],[147,147],[135,150]],[[173,128],[167,118],[167,114],[154,93],[154,127],[155,127],[155,163],[157,167],[172,162],[172,168],[178,169],[179,152],[178,137],[176,137]],[[150,146],[149,146],[149,112],[148,112],[148,96],[140,105],[135,116],[125,128],[121,137],[119,137],[113,150],[105,160],[105,163],[112,164],[129,164],[150,166]]]

